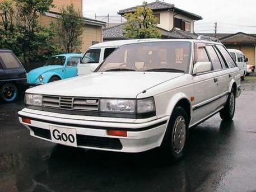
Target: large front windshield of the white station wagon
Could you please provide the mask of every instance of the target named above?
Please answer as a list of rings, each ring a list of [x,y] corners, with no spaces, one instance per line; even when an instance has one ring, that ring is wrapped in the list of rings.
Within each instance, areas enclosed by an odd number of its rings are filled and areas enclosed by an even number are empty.
[[[187,73],[189,41],[156,41],[123,45],[114,51],[95,72],[148,71]]]

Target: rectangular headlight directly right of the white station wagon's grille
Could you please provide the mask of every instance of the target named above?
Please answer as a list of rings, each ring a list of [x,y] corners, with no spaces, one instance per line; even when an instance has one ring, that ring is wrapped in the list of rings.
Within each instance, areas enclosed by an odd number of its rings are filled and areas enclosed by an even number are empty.
[[[135,103],[135,100],[131,99],[101,99],[100,111],[134,113],[136,109]]]

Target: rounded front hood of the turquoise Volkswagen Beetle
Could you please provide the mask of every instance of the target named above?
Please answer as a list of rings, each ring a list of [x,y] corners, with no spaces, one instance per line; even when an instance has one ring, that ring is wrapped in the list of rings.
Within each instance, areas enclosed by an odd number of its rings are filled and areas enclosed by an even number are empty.
[[[27,82],[34,83],[41,74],[61,68],[63,68],[63,65],[47,65],[44,67],[33,69],[29,73],[27,73]]]

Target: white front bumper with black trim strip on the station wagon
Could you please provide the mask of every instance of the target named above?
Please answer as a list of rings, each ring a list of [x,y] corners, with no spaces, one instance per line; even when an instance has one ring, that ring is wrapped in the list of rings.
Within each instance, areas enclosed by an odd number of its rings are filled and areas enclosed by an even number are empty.
[[[113,121],[113,118],[97,120],[89,116],[81,118],[77,115],[60,115],[54,116],[50,112],[26,108],[18,112],[20,123],[24,124],[34,137],[54,142],[52,128],[75,130],[76,147],[119,152],[143,152],[159,147],[169,120],[169,116],[166,116],[134,123]],[[30,123],[24,123],[22,118],[29,118]],[[108,130],[125,130],[127,137],[108,135]]]

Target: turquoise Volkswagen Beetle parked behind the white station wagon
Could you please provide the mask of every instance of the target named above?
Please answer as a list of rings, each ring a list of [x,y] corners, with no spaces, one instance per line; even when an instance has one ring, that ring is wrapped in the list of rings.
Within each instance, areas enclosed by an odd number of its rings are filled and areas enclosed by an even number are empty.
[[[82,54],[66,53],[49,58],[43,67],[27,73],[27,83],[30,86],[41,85],[60,79],[77,76],[77,64]]]

